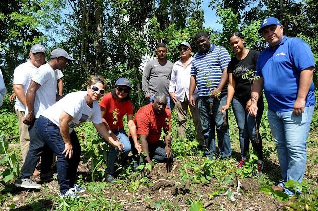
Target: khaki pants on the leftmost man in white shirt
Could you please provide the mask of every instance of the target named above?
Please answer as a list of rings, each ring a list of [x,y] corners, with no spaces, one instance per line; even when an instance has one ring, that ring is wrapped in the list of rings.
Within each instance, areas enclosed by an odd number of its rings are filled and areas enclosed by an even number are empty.
[[[25,111],[19,111],[19,110],[15,110],[15,111],[19,121],[21,154],[22,154],[22,159],[24,163],[26,155],[30,147],[29,130],[28,130],[28,126],[23,123]]]

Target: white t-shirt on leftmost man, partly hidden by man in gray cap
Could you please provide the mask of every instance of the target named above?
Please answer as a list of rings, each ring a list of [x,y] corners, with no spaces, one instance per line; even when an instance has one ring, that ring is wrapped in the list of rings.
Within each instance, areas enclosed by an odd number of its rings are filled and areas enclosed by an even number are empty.
[[[26,91],[29,88],[31,79],[34,75],[34,73],[38,70],[37,67],[35,67],[30,60],[28,60],[25,63],[22,63],[18,67],[14,69],[13,73],[13,85],[23,85],[24,94],[26,94]],[[15,98],[15,105],[14,108],[19,111],[25,111],[24,105],[21,103],[21,101],[16,97]]]

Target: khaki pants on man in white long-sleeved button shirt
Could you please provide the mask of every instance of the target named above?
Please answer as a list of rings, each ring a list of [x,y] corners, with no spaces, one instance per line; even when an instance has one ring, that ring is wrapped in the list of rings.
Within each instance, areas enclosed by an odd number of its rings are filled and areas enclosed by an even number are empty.
[[[189,105],[189,100],[187,96],[185,95],[184,101],[177,101],[175,103],[175,108],[178,114],[178,137],[180,140],[184,139],[186,137],[185,135],[185,130],[186,130],[186,122],[187,122],[187,113],[188,113],[188,105]],[[202,127],[201,127],[201,122],[200,122],[200,115],[199,115],[199,110],[198,110],[198,104],[195,104],[195,107],[190,106],[190,111],[192,114],[192,119],[193,119],[193,124],[194,128],[196,131],[196,139],[197,141],[204,145],[204,136],[202,134]]]

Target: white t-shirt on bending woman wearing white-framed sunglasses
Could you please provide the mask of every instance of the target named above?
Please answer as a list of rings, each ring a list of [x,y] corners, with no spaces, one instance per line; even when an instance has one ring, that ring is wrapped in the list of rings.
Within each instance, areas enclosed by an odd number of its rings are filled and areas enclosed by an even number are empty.
[[[78,91],[67,94],[53,106],[42,113],[42,116],[51,120],[60,127],[59,118],[62,111],[69,114],[73,119],[69,122],[69,132],[78,127],[81,123],[91,120],[93,123],[102,123],[101,112],[97,101],[93,102],[90,108],[86,102],[87,91]]]

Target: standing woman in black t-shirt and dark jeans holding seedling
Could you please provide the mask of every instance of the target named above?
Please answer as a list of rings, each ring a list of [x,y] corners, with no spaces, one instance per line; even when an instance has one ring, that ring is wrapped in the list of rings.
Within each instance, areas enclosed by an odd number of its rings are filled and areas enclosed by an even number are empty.
[[[251,83],[248,79],[243,79],[243,75],[249,71],[256,70],[256,63],[258,51],[249,50],[245,48],[244,36],[239,33],[233,33],[229,42],[232,50],[237,54],[231,59],[228,65],[228,94],[227,103],[221,108],[221,112],[229,109],[230,103],[232,101],[232,109],[237,120],[239,127],[239,142],[241,150],[241,161],[239,163],[239,168],[241,168],[246,159],[248,159],[247,152],[249,151],[249,140],[252,142],[254,151],[257,152],[258,156],[258,175],[263,169],[263,146],[260,134],[258,134],[258,141],[255,141],[255,117],[248,114],[248,108],[250,106],[251,99]],[[258,112],[256,117],[257,128],[259,128],[260,120],[263,115],[264,102],[261,99],[257,103]]]

